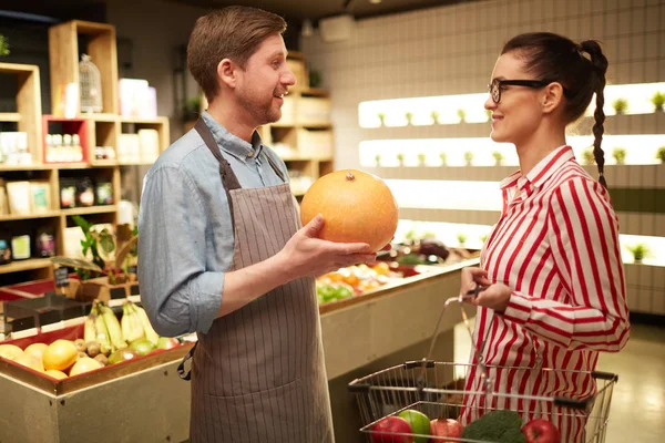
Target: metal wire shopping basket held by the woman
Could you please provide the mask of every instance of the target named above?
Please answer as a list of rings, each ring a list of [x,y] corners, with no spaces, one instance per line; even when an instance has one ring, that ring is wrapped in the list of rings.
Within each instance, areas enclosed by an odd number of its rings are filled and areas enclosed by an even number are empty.
[[[433,436],[421,433],[386,434],[378,432],[375,425],[381,420],[398,415],[406,410],[416,410],[429,419],[457,420],[464,412],[464,403],[469,418],[478,419],[490,411],[510,410],[524,419],[543,418],[566,427],[561,441],[602,443],[610,415],[612,390],[617,375],[600,371],[570,371],[532,367],[498,367],[484,365],[477,358],[478,364],[436,362],[430,359],[439,323],[449,305],[458,302],[461,307],[462,319],[469,332],[471,328],[461,303],[468,297],[474,297],[482,288],[467,295],[446,301],[439,322],[431,339],[428,357],[422,360],[409,361],[372,374],[356,379],[348,389],[357,401],[362,421],[362,432],[369,442],[473,442],[497,443],[484,440],[463,437]],[[477,350],[475,350],[477,351]],[[478,351],[477,351],[478,352]],[[479,356],[480,357],[480,356]],[[472,370],[481,371],[481,380],[485,383],[477,390],[466,389],[464,377]],[[574,375],[594,383],[594,389],[584,399],[523,395],[515,392],[502,392],[491,387],[491,380],[498,371],[512,371],[514,374],[525,374],[529,380],[555,379]],[[526,380],[526,379],[524,379]],[[470,404],[469,404],[470,403]],[[569,429],[570,427],[570,429]],[[566,437],[567,435],[567,437]],[[415,439],[415,440],[413,440]]]

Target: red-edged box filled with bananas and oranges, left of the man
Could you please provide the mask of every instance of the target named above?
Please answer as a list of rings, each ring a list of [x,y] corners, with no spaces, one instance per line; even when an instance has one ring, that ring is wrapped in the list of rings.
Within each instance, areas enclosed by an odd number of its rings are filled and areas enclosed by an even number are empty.
[[[61,395],[178,360],[192,343],[158,337],[143,308],[95,301],[84,323],[0,342],[0,373]]]

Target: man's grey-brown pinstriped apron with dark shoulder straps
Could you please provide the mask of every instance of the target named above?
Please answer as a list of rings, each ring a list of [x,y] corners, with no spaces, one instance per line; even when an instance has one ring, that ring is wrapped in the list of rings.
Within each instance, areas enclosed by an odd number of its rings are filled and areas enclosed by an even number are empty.
[[[198,120],[195,128],[219,161],[229,202],[229,270],[274,256],[301,226],[288,183],[241,188],[205,123]],[[314,278],[293,280],[217,318],[198,333],[195,348],[193,443],[334,442]]]

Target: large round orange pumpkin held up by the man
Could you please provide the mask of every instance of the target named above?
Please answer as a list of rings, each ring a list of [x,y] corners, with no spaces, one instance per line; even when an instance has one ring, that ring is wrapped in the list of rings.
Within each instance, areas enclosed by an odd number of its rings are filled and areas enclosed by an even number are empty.
[[[379,177],[342,169],[317,179],[303,197],[300,219],[325,219],[319,237],[336,243],[367,243],[372,251],[386,246],[397,230],[399,209]]]

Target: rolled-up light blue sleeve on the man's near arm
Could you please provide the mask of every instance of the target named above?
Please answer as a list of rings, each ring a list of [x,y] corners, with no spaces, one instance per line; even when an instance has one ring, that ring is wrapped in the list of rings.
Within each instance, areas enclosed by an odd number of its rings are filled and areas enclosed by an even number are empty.
[[[222,303],[224,272],[206,270],[202,193],[176,166],[145,177],[139,214],[141,301],[155,331],[207,332]]]

